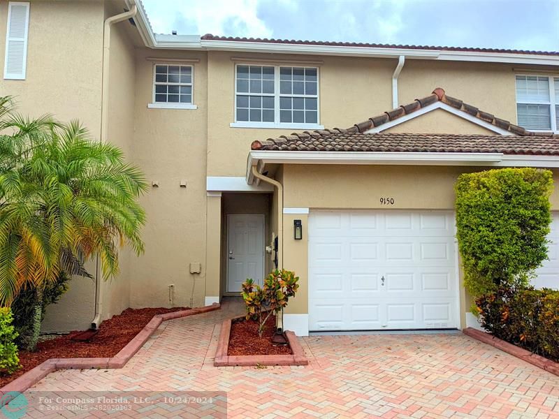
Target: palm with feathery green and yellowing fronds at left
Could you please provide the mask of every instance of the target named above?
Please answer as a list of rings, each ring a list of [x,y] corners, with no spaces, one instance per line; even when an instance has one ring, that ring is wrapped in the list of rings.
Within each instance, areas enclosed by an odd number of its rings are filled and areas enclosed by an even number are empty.
[[[0,98],[0,304],[36,289],[30,350],[43,291],[61,272],[87,275],[85,260],[98,255],[107,279],[119,272],[119,247],[143,252],[146,188],[119,148],[92,140],[78,122],[28,119]]]

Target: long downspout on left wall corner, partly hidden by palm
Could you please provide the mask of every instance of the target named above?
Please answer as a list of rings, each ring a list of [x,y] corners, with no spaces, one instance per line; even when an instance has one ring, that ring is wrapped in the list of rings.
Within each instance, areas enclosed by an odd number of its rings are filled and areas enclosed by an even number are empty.
[[[138,6],[134,3],[130,10],[119,15],[108,17],[103,25],[103,76],[101,81],[101,142],[106,142],[108,137],[108,89],[109,89],[109,53],[110,53],[110,27],[112,24],[129,20],[138,13]],[[92,320],[92,329],[99,328],[101,324],[101,311],[103,309],[103,290],[99,274],[101,260],[95,260],[95,314]]]

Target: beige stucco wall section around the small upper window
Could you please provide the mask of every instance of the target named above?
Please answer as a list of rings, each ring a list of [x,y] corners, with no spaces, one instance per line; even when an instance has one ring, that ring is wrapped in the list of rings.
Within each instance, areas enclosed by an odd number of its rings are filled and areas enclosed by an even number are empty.
[[[152,102],[153,65],[147,58],[196,59],[196,110],[148,109]],[[189,63],[190,64],[190,63]],[[202,306],[206,251],[206,131],[208,100],[203,52],[136,50],[136,103],[133,161],[150,190],[140,200],[147,214],[142,232],[145,254],[133,257],[129,272],[131,307]],[[187,182],[180,187],[181,180]],[[151,187],[159,182],[159,187]],[[202,264],[201,274],[189,263]],[[169,285],[174,285],[170,301]]]

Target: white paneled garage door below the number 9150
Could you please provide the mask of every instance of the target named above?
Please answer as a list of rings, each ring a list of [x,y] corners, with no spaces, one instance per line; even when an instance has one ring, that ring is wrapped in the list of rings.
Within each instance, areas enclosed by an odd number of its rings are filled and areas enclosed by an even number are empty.
[[[458,328],[451,212],[311,212],[309,329]]]

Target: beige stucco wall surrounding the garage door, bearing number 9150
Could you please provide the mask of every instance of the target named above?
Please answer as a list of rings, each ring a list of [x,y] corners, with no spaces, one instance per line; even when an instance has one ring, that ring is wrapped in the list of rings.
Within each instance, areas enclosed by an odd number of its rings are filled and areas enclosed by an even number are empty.
[[[454,183],[462,172],[484,168],[459,166],[324,166],[284,165],[285,207],[339,210],[453,210]],[[556,184],[559,171],[553,172]],[[379,202],[393,197],[387,207]],[[559,210],[559,188],[551,196],[552,210]],[[303,240],[293,240],[293,219],[303,221]],[[286,313],[308,312],[308,217],[284,214],[284,267],[300,277],[300,291],[291,300]],[[460,316],[465,327],[465,313],[470,297],[463,288],[460,270]]]

